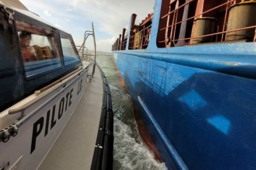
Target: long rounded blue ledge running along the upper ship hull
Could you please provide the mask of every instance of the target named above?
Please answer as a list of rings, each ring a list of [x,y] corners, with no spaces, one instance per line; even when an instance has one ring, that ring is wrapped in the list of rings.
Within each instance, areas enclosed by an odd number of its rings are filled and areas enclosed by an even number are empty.
[[[215,72],[226,73],[238,77],[256,79],[256,60],[254,55],[235,54],[227,57],[219,57],[213,54],[199,53],[141,53],[141,52],[116,52],[124,55],[147,58],[149,60],[163,61],[166,63],[179,64],[182,66],[195,67],[198,69],[212,70]],[[187,56],[190,55],[190,56]],[[242,56],[242,57],[241,57]],[[229,60],[224,60],[228,58]],[[241,61],[247,60],[246,62]]]

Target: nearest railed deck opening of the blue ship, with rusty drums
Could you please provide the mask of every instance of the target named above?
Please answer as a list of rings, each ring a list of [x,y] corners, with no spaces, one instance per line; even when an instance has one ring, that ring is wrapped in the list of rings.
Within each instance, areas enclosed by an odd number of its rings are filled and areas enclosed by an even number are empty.
[[[181,5],[179,1],[168,2],[170,3],[168,12],[162,13],[160,17],[160,25],[165,26],[160,27],[159,25],[160,28],[158,29],[157,38],[158,47],[175,47],[203,42],[237,41],[243,39],[239,34],[248,34],[247,30],[250,30],[251,35],[249,38],[246,37],[248,35],[243,35],[244,39],[246,39],[246,41],[255,41],[255,21],[249,22],[247,25],[240,24],[240,21],[237,21],[237,23],[229,21],[229,18],[231,20],[232,17],[236,17],[235,12],[230,12],[234,5],[249,4],[250,2],[254,3],[252,5],[255,5],[255,0],[226,0],[226,2],[222,4],[218,4],[218,2],[206,4],[208,1],[190,0]],[[196,6],[192,16],[190,12],[193,9],[189,9],[190,5],[192,7]],[[236,11],[238,10],[239,9],[236,9]],[[187,12],[187,16],[184,14],[185,12]],[[243,14],[241,13],[240,15]],[[253,15],[244,15],[244,19],[250,17],[254,18]],[[189,22],[190,25],[188,25]],[[185,33],[184,30],[182,31],[182,24],[187,26]]]

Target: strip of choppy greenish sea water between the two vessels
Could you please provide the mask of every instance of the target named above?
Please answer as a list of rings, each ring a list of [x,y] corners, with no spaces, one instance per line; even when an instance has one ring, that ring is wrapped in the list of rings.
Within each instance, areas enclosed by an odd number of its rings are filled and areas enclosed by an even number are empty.
[[[118,78],[111,53],[96,59],[107,77],[114,112],[114,169],[166,169],[144,145],[133,115],[132,101]]]

